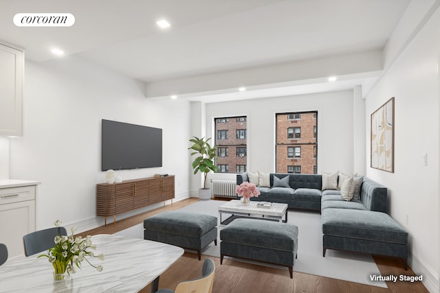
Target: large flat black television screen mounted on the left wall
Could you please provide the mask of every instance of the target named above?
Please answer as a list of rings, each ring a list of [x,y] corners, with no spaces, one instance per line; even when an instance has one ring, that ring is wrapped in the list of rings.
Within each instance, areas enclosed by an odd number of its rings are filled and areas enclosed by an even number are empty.
[[[162,129],[102,119],[102,171],[162,167]]]

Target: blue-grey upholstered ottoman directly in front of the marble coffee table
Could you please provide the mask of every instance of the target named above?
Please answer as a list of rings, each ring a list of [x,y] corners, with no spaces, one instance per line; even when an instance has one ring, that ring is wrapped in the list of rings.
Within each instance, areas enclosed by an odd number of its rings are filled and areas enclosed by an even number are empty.
[[[293,279],[298,250],[298,227],[258,219],[236,219],[220,231],[220,264],[223,257],[251,259],[289,268]]]

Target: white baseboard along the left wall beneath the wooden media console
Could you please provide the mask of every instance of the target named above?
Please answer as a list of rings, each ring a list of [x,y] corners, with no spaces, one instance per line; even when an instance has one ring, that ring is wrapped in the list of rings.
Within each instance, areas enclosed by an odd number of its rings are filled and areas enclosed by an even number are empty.
[[[173,199],[173,202],[179,202],[180,200],[184,200],[186,198],[190,198],[188,192],[177,194]],[[171,200],[166,200],[165,204],[171,204]],[[153,209],[157,209],[159,207],[163,207],[164,202],[158,202],[157,204],[151,204],[148,207],[143,207],[141,209],[136,209],[135,211],[129,211],[127,213],[121,213],[116,215],[116,221],[133,217],[133,215],[138,215],[140,213],[145,213],[146,211],[151,211]],[[107,224],[109,222],[113,222],[113,217],[107,217]],[[68,222],[63,223],[63,226],[67,229],[67,234],[70,234],[72,227],[76,227],[76,233],[83,233],[85,231],[89,231],[94,228],[98,228],[100,226],[104,226],[104,218],[103,217],[91,217],[83,220],[79,220],[76,222]]]

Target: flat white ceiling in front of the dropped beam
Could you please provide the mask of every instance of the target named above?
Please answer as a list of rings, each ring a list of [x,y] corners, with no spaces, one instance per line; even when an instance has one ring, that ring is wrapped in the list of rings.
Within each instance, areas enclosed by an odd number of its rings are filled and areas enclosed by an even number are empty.
[[[26,58],[36,62],[56,58],[50,49],[58,47],[148,86],[176,78],[382,50],[409,2],[0,0],[0,40],[22,47]],[[71,13],[76,21],[72,27],[16,27],[12,18],[23,12]],[[166,30],[155,24],[163,18],[171,23]],[[359,82],[362,80],[355,81]],[[343,83],[347,87],[347,80]],[[289,91],[303,93],[310,87],[302,86],[299,91]],[[280,91],[276,95],[289,93]]]

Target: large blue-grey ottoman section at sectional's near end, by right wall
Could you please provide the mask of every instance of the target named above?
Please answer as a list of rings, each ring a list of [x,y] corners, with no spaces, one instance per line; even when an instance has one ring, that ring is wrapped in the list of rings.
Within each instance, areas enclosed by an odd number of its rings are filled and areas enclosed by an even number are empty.
[[[408,232],[386,213],[322,209],[322,256],[327,249],[398,257],[407,269]]]

